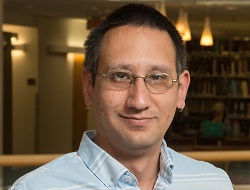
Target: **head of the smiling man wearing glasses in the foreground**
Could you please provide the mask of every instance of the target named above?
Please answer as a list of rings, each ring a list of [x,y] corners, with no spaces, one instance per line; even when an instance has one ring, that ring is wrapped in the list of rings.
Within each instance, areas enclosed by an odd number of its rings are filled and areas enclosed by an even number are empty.
[[[185,106],[185,55],[173,25],[145,5],[122,7],[96,28],[83,72],[96,144],[116,158],[159,151],[176,108]]]

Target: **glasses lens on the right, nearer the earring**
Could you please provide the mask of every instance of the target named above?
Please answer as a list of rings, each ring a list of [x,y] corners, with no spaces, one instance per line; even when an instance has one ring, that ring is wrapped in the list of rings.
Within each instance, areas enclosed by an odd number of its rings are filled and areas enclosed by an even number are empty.
[[[163,92],[172,87],[173,79],[165,73],[151,74],[146,78],[146,85],[152,92]]]

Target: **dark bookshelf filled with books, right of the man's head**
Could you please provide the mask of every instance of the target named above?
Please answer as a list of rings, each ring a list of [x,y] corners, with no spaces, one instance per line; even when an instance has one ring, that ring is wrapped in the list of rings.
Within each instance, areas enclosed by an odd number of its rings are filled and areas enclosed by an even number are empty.
[[[219,101],[231,125],[225,138],[246,139],[250,145],[250,42],[217,39],[214,46],[201,47],[199,40],[192,40],[187,49],[191,84],[186,107],[176,113],[172,132],[196,138],[201,123],[211,116],[211,105]]]

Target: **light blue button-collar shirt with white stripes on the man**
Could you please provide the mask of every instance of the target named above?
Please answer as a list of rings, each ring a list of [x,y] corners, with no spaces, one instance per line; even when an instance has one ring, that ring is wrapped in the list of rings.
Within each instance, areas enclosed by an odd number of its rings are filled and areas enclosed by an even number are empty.
[[[11,190],[138,190],[136,177],[83,135],[77,152],[63,155],[18,179]],[[228,175],[213,165],[193,160],[167,147],[163,140],[155,190],[231,190]]]

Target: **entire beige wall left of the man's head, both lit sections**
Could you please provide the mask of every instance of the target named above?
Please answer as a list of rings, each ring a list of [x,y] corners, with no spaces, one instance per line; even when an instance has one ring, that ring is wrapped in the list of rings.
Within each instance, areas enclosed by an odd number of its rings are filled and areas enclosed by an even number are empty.
[[[14,153],[36,153],[36,147],[38,153],[69,152],[72,149],[73,63],[66,54],[51,53],[47,48],[51,45],[83,48],[88,34],[86,21],[43,17],[33,19],[33,27],[25,27],[16,25],[17,18],[16,15],[8,17],[5,29],[8,27],[8,31],[13,29],[20,34],[26,30],[22,35],[28,35],[30,41],[25,42],[26,52],[12,55]],[[32,25],[30,21],[27,23]],[[27,78],[35,78],[37,84],[28,86]]]

